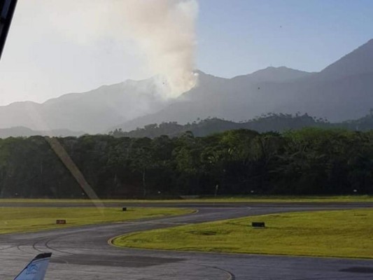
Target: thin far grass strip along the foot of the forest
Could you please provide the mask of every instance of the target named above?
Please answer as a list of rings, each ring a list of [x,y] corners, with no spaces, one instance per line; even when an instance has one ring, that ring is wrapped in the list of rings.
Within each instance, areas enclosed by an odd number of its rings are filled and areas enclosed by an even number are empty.
[[[342,196],[232,196],[201,197],[184,200],[57,200],[57,199],[0,199],[0,203],[8,202],[47,202],[47,203],[92,203],[92,202],[373,202],[372,195]]]

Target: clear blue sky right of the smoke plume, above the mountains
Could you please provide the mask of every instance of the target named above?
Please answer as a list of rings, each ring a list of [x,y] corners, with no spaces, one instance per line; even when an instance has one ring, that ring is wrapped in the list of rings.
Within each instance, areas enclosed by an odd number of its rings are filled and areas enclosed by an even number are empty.
[[[320,71],[373,38],[373,1],[201,0],[197,32],[197,65],[216,76]]]

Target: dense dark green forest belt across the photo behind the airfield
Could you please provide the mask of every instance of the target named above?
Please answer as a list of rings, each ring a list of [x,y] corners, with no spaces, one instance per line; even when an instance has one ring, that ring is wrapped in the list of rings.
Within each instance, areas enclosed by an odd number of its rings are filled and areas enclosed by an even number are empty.
[[[101,198],[373,193],[373,131],[53,139]],[[85,196],[50,140],[0,140],[0,197]]]

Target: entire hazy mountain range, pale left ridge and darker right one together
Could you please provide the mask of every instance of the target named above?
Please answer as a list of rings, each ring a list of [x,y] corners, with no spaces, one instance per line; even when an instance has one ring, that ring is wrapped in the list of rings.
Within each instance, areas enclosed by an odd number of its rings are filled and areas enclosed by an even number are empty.
[[[286,67],[230,79],[197,73],[198,85],[173,100],[162,97],[167,84],[153,77],[65,94],[43,104],[0,106],[0,128],[102,133],[209,116],[239,121],[298,111],[337,122],[360,118],[373,108],[373,40],[317,73]]]

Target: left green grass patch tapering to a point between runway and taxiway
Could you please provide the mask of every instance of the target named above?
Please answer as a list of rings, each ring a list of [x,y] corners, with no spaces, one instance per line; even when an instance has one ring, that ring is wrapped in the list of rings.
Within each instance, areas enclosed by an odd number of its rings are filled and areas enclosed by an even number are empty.
[[[54,207],[2,207],[0,208],[0,234],[34,232],[76,225],[132,221],[140,218],[192,213],[192,209],[175,208],[54,208]],[[66,225],[56,225],[57,219],[66,219]]]

